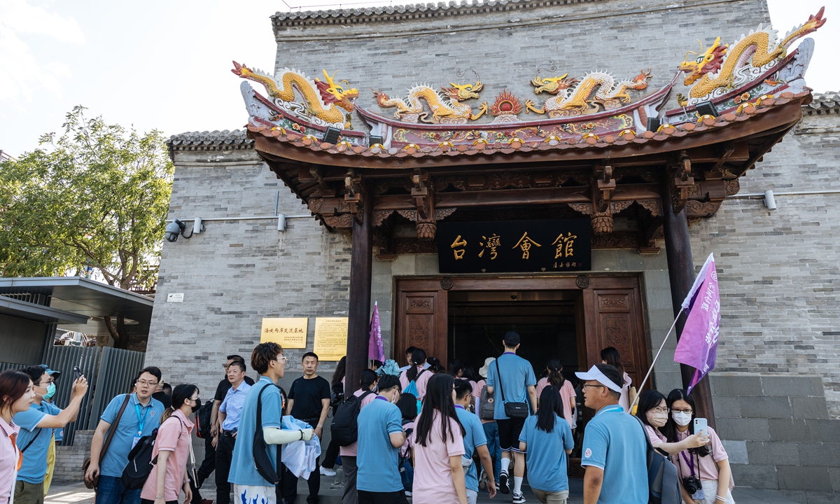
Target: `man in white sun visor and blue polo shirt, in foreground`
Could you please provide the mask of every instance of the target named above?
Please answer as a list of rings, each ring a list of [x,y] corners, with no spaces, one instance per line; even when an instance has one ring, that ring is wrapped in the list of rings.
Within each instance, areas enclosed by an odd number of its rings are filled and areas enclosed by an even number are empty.
[[[648,444],[638,420],[618,404],[622,375],[606,364],[575,375],[584,381],[585,407],[596,411],[586,424],[580,459],[584,504],[646,504]]]

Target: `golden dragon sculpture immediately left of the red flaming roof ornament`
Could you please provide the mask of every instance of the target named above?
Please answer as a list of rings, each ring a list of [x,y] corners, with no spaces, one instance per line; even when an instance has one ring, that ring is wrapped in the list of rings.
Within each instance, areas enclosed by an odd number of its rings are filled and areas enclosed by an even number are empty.
[[[478,113],[473,113],[469,105],[461,103],[479,97],[484,89],[484,84],[476,81],[475,84],[454,84],[452,87],[441,87],[444,94],[440,94],[432,87],[419,85],[408,90],[406,99],[390,98],[384,92],[373,91],[376,102],[381,108],[396,107],[394,117],[411,123],[423,121],[424,123],[466,123],[467,120],[475,121],[487,112],[487,102],[480,104]],[[428,105],[432,117],[423,109],[423,102]]]

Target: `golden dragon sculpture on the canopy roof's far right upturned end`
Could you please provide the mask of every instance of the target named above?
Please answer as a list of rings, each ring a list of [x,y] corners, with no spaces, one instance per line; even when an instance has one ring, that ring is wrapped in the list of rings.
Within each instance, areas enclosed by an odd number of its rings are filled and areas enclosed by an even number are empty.
[[[824,10],[824,7],[821,8],[805,23],[790,30],[781,41],[770,25],[762,27],[759,24],[758,29],[736,40],[731,49],[728,44],[721,45],[720,37],[705,50],[701,42],[700,52],[685,53],[685,61],[680,63],[680,71],[688,74],[685,85],[694,84],[689,92],[690,100],[681,95],[678,97],[680,105],[701,102],[701,98],[711,93],[723,94],[768,71],[787,55],[788,48],[796,39],[801,39],[826,23],[826,19],[822,18]],[[696,55],[696,58],[689,60],[690,54]]]

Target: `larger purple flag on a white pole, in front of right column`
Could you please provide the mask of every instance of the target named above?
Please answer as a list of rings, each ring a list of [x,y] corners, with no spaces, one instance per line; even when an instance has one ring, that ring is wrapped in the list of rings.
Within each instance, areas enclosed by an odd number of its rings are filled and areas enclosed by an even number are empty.
[[[715,368],[717,360],[717,334],[721,329],[721,296],[717,289],[715,255],[710,254],[697,275],[685,301],[685,320],[680,343],[674,360],[695,369],[688,386],[690,392],[703,376]]]

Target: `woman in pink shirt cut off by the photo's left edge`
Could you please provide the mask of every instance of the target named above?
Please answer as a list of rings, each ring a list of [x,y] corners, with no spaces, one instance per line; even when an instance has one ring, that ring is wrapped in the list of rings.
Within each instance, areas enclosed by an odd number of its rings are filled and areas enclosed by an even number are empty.
[[[12,417],[28,411],[34,398],[28,375],[14,370],[0,373],[0,504],[7,504],[13,495],[14,481],[24,461],[17,445],[20,428],[12,423]]]

